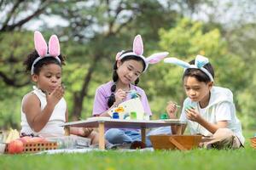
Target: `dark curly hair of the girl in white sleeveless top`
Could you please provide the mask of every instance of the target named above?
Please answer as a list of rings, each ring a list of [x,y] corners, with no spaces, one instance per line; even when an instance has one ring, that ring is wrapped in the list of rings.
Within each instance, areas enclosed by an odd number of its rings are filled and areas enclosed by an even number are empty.
[[[32,64],[35,59],[38,59],[38,57],[40,56],[38,55],[38,52],[36,50],[34,50],[31,54],[27,55],[26,60],[23,62],[23,65],[26,65],[27,72],[31,72]],[[56,64],[60,66],[65,65],[64,57],[61,54],[58,56],[58,58],[61,59],[61,63],[59,63],[59,61],[54,57],[45,57],[44,59],[40,59],[34,65],[34,73],[38,75],[44,65],[49,65],[49,64]]]

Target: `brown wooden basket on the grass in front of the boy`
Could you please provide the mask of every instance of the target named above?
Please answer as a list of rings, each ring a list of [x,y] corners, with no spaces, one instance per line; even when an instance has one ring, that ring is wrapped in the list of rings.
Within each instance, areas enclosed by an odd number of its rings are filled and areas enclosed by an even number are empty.
[[[201,135],[151,135],[154,150],[191,150],[201,142]]]

